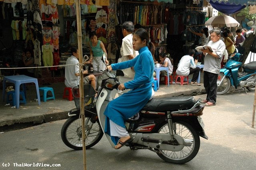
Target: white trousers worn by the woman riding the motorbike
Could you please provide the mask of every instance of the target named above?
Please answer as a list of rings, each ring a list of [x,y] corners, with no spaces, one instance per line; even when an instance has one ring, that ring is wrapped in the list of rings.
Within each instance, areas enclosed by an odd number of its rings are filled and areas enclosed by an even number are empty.
[[[155,95],[155,92],[152,88],[152,95],[149,100],[151,100],[154,97],[154,95]],[[134,113],[134,114],[136,114],[136,113]],[[112,122],[112,120],[110,120],[110,134],[111,134],[111,136],[118,136],[119,138],[129,136],[129,134],[125,128]]]

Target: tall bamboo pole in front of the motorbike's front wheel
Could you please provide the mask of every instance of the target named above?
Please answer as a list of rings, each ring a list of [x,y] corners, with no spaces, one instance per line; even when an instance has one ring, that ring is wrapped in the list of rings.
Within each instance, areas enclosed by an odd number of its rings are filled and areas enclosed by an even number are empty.
[[[82,51],[82,29],[81,29],[81,12],[80,12],[80,0],[76,0],[76,23],[77,23],[77,42],[78,42],[78,52],[79,52],[79,63],[80,65],[80,114],[82,119],[82,143],[83,143],[83,160],[84,160],[84,170],[86,170],[86,148],[85,148],[85,116],[84,116],[84,80],[83,80],[83,51]]]

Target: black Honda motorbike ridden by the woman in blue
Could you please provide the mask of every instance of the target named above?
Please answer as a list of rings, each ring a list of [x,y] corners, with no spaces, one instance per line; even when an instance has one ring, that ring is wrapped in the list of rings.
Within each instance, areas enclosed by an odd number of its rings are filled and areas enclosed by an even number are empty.
[[[115,146],[110,136],[104,132],[104,111],[117,93],[120,83],[116,76],[120,76],[118,70],[116,75],[105,70],[98,77],[101,86],[98,98],[91,102],[90,108],[84,109],[86,149],[96,145],[103,135],[110,146]],[[94,95],[85,94],[85,98],[86,96],[93,98]],[[92,98],[85,101],[85,107],[90,105]],[[138,113],[126,120],[126,129],[133,140],[125,146],[131,150],[147,149],[166,162],[184,164],[198,153],[200,136],[208,139],[201,118],[203,110],[201,99],[196,100],[193,96],[153,98]],[[68,116],[70,118],[61,130],[62,141],[72,149],[82,150],[80,108],[70,110]]]

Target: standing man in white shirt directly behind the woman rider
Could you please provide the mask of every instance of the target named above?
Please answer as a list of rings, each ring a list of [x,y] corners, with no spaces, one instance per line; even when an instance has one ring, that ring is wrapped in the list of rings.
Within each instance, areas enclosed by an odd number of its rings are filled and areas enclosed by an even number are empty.
[[[122,27],[123,33],[123,42],[120,49],[120,54],[122,56],[121,62],[132,60],[134,57],[137,56],[136,51],[132,47],[132,33],[134,31],[134,25],[130,21],[126,21]],[[123,70],[124,76],[120,76],[119,82],[123,84],[125,82],[132,81],[134,79],[135,72],[133,68],[126,68]],[[130,89],[129,89],[130,90]],[[128,92],[129,90],[118,90],[118,96]]]

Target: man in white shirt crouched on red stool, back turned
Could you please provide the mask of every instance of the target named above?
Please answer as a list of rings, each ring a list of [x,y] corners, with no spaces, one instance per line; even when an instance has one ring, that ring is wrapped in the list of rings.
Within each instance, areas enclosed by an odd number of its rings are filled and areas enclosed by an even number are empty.
[[[188,51],[188,55],[183,56],[180,59],[176,74],[179,76],[188,76],[194,73],[190,84],[194,86],[201,86],[199,82],[196,82],[200,68],[196,67],[198,60],[194,60],[194,54],[195,51],[191,49]]]

